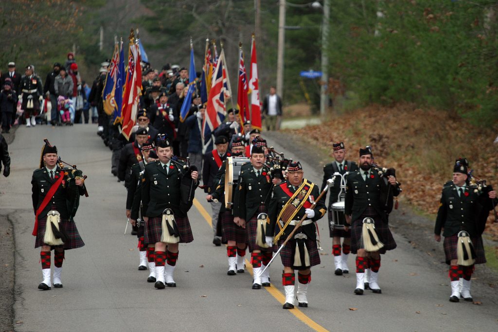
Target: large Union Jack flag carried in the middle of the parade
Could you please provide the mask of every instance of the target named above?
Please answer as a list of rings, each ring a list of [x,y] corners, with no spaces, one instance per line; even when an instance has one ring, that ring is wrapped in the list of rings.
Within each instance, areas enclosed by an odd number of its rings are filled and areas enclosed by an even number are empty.
[[[218,63],[214,71],[211,90],[209,91],[208,104],[202,122],[202,135],[206,141],[211,140],[211,134],[225,119],[225,87],[223,84],[223,68],[225,66],[225,54],[221,51]]]

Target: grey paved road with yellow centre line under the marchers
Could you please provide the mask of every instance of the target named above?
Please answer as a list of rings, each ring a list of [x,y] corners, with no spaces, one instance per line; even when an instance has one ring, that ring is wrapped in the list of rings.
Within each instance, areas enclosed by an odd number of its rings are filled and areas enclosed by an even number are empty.
[[[39,249],[33,248],[31,235],[30,179],[44,137],[57,145],[63,160],[84,170],[90,194],[82,198],[76,216],[86,246],[66,252],[64,288],[50,291],[37,290],[42,279]],[[210,208],[200,190],[199,204],[189,213],[195,240],[180,246],[178,287],[155,290],[145,282],[148,273],[136,269],[136,237],[123,235],[125,189],[111,175],[111,152],[94,126],[21,127],[9,150],[12,170],[2,179],[5,195],[0,207],[14,220],[14,322],[19,322],[15,331],[498,330],[497,306],[486,289],[473,291],[480,306],[450,303],[447,275],[431,269],[434,258],[427,261],[413,254],[399,236],[395,236],[398,248],[382,257],[382,294],[353,295],[354,273],[333,274],[331,241],[323,221],[322,246],[327,249],[322,251],[322,264],[312,270],[309,308],[284,311],[279,303],[283,301],[279,260],[271,265],[275,287],[268,290],[251,290],[249,273],[227,276],[226,250],[211,244],[212,230],[203,216],[203,210]],[[320,180],[320,169],[306,162],[303,166],[307,178]],[[353,257],[350,269],[354,272]]]

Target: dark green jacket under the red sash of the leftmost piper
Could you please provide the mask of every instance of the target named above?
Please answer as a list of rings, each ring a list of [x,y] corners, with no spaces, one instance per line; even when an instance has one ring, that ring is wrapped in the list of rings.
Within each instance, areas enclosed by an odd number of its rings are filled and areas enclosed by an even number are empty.
[[[72,171],[72,169],[69,168],[64,168],[64,170],[67,170],[69,172]],[[52,187],[52,184],[57,182],[57,180],[59,179],[60,171],[61,168],[57,166],[53,181],[50,179],[50,175],[47,172],[46,168],[39,168],[33,172],[33,177],[31,178],[31,199],[33,201],[33,210],[35,215],[36,210],[38,210],[41,202],[43,202],[43,200],[45,199],[45,196],[50,190],[50,187]],[[84,195],[85,186],[83,185],[83,187],[78,187],[78,191],[80,196]],[[50,202],[48,202],[48,204],[45,206],[45,209],[43,209],[43,211],[39,214],[38,219],[45,218],[47,216],[47,213],[52,209],[60,213],[61,219],[69,219],[69,212],[67,207],[69,195],[70,193],[68,190],[68,183],[67,180],[64,179],[64,186],[61,183],[59,188],[57,188],[57,191],[52,196]]]

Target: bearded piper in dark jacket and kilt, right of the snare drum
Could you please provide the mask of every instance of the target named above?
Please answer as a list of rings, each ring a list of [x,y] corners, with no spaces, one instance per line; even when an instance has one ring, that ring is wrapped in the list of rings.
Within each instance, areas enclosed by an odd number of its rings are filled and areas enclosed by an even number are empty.
[[[384,211],[380,202],[381,181],[384,178],[372,168],[372,148],[367,146],[360,149],[360,169],[347,176],[346,200],[344,213],[346,225],[351,225],[351,252],[356,257],[356,289],[355,294],[363,295],[365,290],[365,270],[368,268],[367,255],[370,256],[370,289],[373,293],[381,293],[378,286],[378,270],[380,268],[380,254],[386,250],[396,248],[396,242],[392,237],[388,226],[388,213]],[[399,183],[394,176],[389,176],[388,185],[392,186],[394,196],[400,193]],[[384,245],[380,250],[368,252],[365,250],[362,238],[363,220],[373,219],[375,232],[380,242]],[[346,229],[347,230],[347,229]]]

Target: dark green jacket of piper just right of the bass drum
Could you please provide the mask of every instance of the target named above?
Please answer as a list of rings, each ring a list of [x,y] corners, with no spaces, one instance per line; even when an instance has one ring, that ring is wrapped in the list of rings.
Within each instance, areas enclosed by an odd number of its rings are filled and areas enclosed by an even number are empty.
[[[272,187],[268,167],[263,166],[261,175],[257,177],[251,163],[242,165],[239,185],[235,191],[234,217],[249,221],[261,204],[268,207]]]

